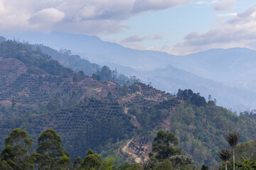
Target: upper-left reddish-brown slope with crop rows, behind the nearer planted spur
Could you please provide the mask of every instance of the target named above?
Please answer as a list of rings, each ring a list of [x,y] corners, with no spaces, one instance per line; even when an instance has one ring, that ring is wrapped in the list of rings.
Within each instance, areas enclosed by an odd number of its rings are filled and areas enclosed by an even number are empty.
[[[1,43],[0,68],[3,106],[10,106],[12,100],[23,105],[48,102],[52,96],[58,97],[62,106],[68,106],[67,100],[72,97],[74,103],[85,96],[105,97],[108,89],[114,89],[114,96],[119,89],[117,84],[95,81],[83,72],[75,73],[38,48],[18,42]]]

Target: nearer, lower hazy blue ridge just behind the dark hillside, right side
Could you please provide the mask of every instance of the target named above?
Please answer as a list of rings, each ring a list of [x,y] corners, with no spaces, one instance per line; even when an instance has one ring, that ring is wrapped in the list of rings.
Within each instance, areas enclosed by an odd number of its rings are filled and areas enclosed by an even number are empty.
[[[178,89],[193,89],[199,92],[202,96],[208,98],[210,94],[217,99],[220,106],[232,108],[233,111],[245,111],[256,108],[255,91],[250,88],[241,88],[241,86],[228,86],[227,84],[199,77],[191,72],[186,72],[182,69],[177,69],[174,66],[167,66],[165,68],[154,69],[152,71],[136,70],[130,67],[122,67],[117,64],[110,64],[110,67],[117,68],[120,72],[126,72],[128,75],[135,75],[142,81],[161,89],[163,91],[170,91],[175,94]],[[248,85],[249,86],[249,85]]]

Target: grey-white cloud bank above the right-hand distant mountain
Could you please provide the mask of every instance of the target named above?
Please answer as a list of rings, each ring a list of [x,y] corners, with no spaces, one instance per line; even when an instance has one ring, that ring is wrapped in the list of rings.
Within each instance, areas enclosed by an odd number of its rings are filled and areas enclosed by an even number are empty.
[[[256,4],[205,33],[188,33],[166,52],[186,55],[212,48],[248,47],[256,49]]]

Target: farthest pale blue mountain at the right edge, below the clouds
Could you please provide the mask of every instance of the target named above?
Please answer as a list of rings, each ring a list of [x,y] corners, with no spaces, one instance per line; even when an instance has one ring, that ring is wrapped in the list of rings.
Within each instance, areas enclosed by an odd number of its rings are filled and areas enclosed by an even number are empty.
[[[176,57],[176,67],[218,81],[256,79],[256,51],[247,48],[213,49]]]

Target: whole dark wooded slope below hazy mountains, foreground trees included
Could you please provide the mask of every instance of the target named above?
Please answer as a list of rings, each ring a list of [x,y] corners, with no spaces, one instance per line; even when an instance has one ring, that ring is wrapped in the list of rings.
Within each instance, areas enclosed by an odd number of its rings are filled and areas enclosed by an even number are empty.
[[[73,62],[73,69],[58,58]],[[226,135],[233,131],[242,142],[235,165],[254,166],[250,148],[255,142],[249,142],[256,137],[253,113],[238,116],[191,89],[169,94],[83,61],[67,50],[0,43],[2,169],[219,169],[225,167],[220,151],[228,147]],[[164,143],[157,140],[159,132],[168,136]],[[38,149],[48,133],[58,140],[55,156]],[[164,156],[161,147],[171,149]],[[86,157],[97,165],[87,165]]]

